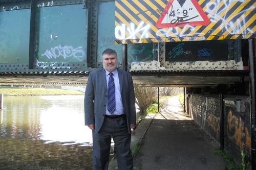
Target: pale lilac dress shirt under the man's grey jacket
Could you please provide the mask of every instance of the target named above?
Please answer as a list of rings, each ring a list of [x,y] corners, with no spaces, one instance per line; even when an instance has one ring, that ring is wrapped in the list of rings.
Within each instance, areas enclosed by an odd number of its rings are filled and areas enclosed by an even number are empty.
[[[106,75],[106,88],[109,89],[109,75],[110,71],[105,70]],[[112,72],[113,73],[113,79],[115,82],[115,97],[116,97],[116,110],[113,114],[111,114],[108,111],[108,102],[106,102],[106,115],[121,115],[123,114],[123,103],[122,103],[122,97],[121,97],[121,91],[120,91],[120,84],[119,84],[119,78],[118,78],[118,72],[117,69]]]

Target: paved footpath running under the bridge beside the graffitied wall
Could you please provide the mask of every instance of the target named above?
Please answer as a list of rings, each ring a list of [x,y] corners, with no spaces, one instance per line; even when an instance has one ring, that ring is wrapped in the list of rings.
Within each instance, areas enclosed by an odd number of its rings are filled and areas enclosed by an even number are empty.
[[[150,114],[132,134],[131,147],[143,139],[134,158],[135,170],[224,170],[213,149],[218,142],[183,112],[178,96],[166,100],[160,112]],[[109,169],[118,169],[116,159]]]

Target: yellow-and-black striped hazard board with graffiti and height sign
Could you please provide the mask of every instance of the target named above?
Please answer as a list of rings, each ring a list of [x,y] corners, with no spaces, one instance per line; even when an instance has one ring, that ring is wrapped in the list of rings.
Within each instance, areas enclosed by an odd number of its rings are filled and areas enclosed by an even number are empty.
[[[116,1],[115,43],[255,38],[256,1]]]

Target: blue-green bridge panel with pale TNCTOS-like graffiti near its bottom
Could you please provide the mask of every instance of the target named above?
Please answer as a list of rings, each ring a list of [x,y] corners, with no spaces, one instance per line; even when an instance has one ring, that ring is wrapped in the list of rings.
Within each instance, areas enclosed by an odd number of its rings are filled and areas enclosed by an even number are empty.
[[[36,68],[72,69],[72,63],[87,62],[85,13],[81,4],[37,9]]]

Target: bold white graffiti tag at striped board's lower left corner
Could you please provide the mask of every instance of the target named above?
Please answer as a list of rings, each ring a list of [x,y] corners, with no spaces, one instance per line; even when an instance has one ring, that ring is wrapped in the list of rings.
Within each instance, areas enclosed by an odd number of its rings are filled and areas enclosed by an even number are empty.
[[[116,39],[136,39],[137,34],[141,34],[140,39],[142,38],[148,38],[148,30],[150,29],[150,24],[147,24],[146,26],[142,27],[144,25],[144,22],[141,21],[139,26],[135,29],[135,24],[131,23],[131,28],[125,27],[124,23],[121,26],[116,26],[115,28],[115,36]],[[126,30],[125,30],[126,28]],[[127,31],[130,36],[125,38],[125,31]],[[121,34],[120,34],[121,33]]]

